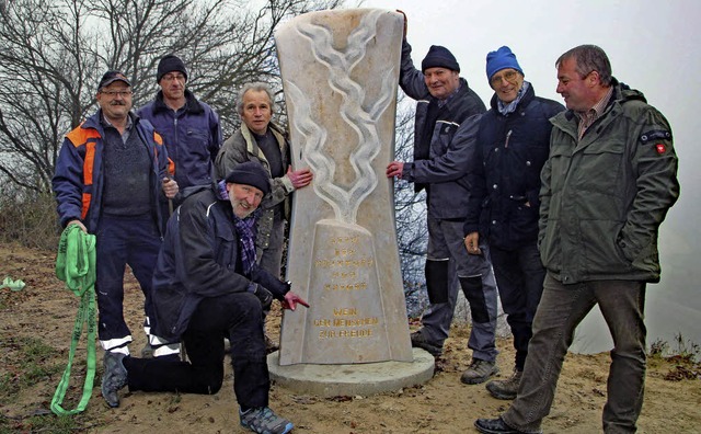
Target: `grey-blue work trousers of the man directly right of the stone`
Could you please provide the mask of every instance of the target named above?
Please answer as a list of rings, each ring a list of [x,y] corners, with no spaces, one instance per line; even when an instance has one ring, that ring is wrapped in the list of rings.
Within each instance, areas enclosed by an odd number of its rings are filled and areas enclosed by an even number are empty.
[[[479,294],[466,294],[470,304],[472,329],[468,347],[472,356],[487,362],[494,362],[498,354],[496,350],[496,313],[497,295],[496,281],[490,263],[486,244],[480,245],[482,255],[468,254],[463,241],[463,225],[460,220],[439,220],[428,217],[428,252],[427,260],[449,259],[448,267],[448,301],[433,304],[422,317],[422,334],[429,341],[443,345],[455,313],[458,298],[459,279],[478,277],[482,281]],[[428,282],[426,283],[429,284]],[[464,289],[464,287],[463,287]],[[472,290],[472,289],[470,289]],[[468,292],[466,289],[466,292]]]

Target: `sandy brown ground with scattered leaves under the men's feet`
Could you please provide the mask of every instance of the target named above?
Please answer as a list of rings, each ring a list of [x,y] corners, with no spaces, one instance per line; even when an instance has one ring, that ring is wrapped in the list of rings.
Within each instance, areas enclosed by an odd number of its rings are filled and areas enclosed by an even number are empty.
[[[3,423],[16,432],[26,430],[32,415],[45,414],[68,361],[68,349],[78,297],[64,288],[54,274],[54,252],[41,252],[0,245],[0,281],[9,275],[23,279],[27,286],[16,293],[0,289],[0,382],[5,389],[13,375],[22,373],[22,353],[15,344],[23,338],[37,338],[56,351],[42,361],[57,366],[59,374],[43,378],[25,387],[19,395],[0,389],[0,414]],[[125,315],[129,318],[136,342],[131,351],[138,353],[145,343],[139,323],[142,296],[128,278]],[[269,333],[276,336],[280,313],[274,310],[268,321]],[[412,329],[415,326],[412,324]],[[425,385],[371,397],[336,397],[331,399],[297,395],[274,385],[271,407],[295,423],[297,433],[470,433],[476,432],[476,418],[495,416],[508,401],[490,397],[483,385],[466,386],[460,374],[470,362],[466,350],[469,329],[455,326],[437,370]],[[508,339],[499,340],[498,363],[502,376],[513,369],[514,352]],[[73,381],[64,407],[72,409],[81,392],[84,378],[84,338],[73,367]],[[99,351],[99,375],[88,409],[76,416],[84,432],[90,433],[239,433],[237,404],[229,368],[225,385],[214,396],[177,393],[130,393],[122,391],[122,406],[108,409],[100,396],[102,352]],[[606,401],[608,354],[574,355],[565,361],[555,402],[543,422],[545,433],[594,433],[601,431],[600,414]],[[646,378],[643,413],[639,421],[641,433],[700,433],[701,381],[699,366],[691,366],[696,375],[679,379],[675,361],[653,358]],[[689,377],[689,376],[687,376]],[[1,431],[1,430],[0,430]]]

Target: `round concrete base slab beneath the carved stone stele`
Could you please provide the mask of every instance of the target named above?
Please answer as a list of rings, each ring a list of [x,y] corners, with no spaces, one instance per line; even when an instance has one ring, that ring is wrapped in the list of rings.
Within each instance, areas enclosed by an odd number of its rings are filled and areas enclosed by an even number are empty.
[[[412,349],[413,362],[378,362],[349,365],[297,364],[280,366],[279,352],[268,354],[271,379],[298,393],[323,398],[370,396],[422,385],[434,375],[434,357]]]

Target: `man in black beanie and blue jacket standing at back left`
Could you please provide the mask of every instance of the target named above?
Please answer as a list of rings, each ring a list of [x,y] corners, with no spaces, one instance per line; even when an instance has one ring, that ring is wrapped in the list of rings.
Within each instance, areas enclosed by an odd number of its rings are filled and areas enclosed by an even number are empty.
[[[219,116],[186,89],[187,78],[180,57],[164,56],[156,72],[161,90],[137,111],[163,137],[181,190],[212,182],[214,161],[222,141]]]

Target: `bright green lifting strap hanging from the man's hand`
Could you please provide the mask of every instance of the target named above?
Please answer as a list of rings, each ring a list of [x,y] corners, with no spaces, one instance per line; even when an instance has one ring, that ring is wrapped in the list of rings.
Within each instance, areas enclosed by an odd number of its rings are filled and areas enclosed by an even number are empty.
[[[68,289],[80,297],[80,307],[73,324],[68,365],[66,365],[61,380],[51,400],[51,411],[54,413],[70,415],[85,410],[92,395],[92,385],[95,378],[95,331],[97,328],[95,316],[95,236],[83,232],[78,225],[69,225],[64,230],[58,242],[56,276],[66,282]],[[61,403],[70,382],[73,355],[85,322],[88,323],[88,368],[83,385],[83,396],[74,410],[65,410]]]

